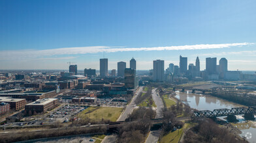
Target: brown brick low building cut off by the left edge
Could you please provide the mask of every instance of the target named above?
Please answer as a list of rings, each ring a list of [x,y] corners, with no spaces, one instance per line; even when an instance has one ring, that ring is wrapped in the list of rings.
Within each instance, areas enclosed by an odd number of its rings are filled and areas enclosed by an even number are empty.
[[[20,110],[25,107],[25,99],[14,99],[11,97],[0,97],[0,102],[5,102],[10,104],[10,109]]]

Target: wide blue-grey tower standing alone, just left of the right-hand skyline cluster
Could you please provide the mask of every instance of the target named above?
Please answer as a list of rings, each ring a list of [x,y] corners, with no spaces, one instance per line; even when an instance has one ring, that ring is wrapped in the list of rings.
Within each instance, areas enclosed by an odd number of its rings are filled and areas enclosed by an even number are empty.
[[[153,81],[164,81],[165,61],[153,60]]]

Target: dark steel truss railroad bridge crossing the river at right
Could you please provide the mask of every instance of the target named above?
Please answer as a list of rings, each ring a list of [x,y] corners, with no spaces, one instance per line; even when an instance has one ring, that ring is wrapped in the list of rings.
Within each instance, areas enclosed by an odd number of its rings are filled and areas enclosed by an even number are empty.
[[[236,119],[238,114],[244,114],[246,120],[254,120],[254,115],[256,113],[256,106],[251,107],[234,107],[232,109],[214,109],[211,110],[195,110],[191,116],[192,119],[195,118],[216,118],[219,116],[227,116],[228,119]]]

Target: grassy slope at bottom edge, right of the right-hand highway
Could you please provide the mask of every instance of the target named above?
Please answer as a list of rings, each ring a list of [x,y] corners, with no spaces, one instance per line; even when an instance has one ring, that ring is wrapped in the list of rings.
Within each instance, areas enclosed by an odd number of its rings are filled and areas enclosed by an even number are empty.
[[[158,142],[160,143],[178,142],[182,137],[182,135],[184,135],[184,129],[193,127],[194,125],[196,125],[196,123],[185,123],[182,129],[177,129],[176,131],[173,131],[173,132],[170,131],[167,135],[163,136],[160,139],[160,141],[158,140]]]

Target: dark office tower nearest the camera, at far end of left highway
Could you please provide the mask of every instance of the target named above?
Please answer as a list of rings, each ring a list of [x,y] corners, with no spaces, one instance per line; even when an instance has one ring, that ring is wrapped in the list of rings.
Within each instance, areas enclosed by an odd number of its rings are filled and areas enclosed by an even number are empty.
[[[136,71],[132,68],[125,68],[125,88],[136,88]]]

